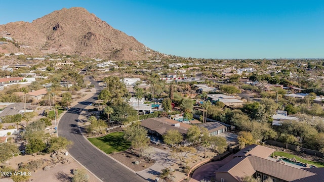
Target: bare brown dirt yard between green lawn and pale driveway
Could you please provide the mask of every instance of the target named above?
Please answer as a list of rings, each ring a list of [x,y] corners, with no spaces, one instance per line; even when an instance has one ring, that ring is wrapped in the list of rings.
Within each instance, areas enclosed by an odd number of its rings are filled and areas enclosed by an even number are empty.
[[[137,154],[132,153],[131,150],[110,154],[110,156],[116,159],[117,161],[123,163],[124,165],[128,166],[129,168],[133,169],[136,172],[147,169],[155,163],[154,161],[150,161],[150,162],[145,161],[143,158],[138,157]],[[139,164],[136,165],[135,161],[138,161]]]

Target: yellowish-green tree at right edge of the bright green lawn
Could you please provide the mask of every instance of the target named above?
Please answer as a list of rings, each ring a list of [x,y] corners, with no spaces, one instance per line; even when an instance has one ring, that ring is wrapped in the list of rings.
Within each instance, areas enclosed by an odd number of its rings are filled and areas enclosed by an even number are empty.
[[[131,142],[132,148],[138,148],[142,157],[143,151],[148,147],[149,139],[146,137],[147,131],[143,127],[129,126],[125,129],[124,139]]]

